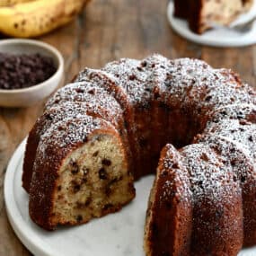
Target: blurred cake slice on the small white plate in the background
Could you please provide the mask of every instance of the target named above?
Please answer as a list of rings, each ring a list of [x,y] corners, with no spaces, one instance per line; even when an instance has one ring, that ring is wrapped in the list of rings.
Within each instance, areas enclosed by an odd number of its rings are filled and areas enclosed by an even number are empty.
[[[213,23],[229,25],[252,4],[253,0],[174,0],[174,16],[187,20],[190,29],[201,34]]]

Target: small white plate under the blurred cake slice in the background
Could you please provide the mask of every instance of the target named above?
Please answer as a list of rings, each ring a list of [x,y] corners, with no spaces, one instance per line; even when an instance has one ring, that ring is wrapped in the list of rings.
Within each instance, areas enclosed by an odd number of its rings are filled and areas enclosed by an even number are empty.
[[[256,1],[252,6],[250,13],[241,15],[235,23],[244,22],[250,19],[256,13]],[[228,29],[215,29],[206,31],[202,35],[198,35],[190,31],[188,22],[173,16],[173,3],[170,2],[167,7],[167,17],[172,29],[187,40],[197,42],[202,45],[213,47],[243,47],[256,43],[256,22],[252,27],[252,31],[239,33]]]

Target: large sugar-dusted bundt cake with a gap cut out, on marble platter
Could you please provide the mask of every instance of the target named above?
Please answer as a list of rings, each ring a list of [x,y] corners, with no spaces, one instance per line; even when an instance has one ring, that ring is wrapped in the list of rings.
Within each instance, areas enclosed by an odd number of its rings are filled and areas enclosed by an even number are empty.
[[[231,70],[160,55],[85,68],[29,134],[31,219],[47,230],[86,223],[156,172],[146,255],[236,255],[256,244],[255,131],[256,93]]]

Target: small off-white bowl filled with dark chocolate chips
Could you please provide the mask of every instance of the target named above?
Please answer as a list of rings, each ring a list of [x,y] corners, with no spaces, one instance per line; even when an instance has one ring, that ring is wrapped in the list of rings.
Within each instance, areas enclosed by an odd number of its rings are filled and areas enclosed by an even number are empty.
[[[0,40],[0,106],[28,107],[44,100],[61,82],[64,60],[39,40]]]

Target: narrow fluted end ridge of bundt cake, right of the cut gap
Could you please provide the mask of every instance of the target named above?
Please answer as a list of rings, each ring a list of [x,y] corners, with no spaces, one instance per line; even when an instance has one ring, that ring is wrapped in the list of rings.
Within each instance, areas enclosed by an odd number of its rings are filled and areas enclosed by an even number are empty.
[[[147,256],[190,255],[192,199],[183,161],[171,144],[163,148],[146,214]]]

